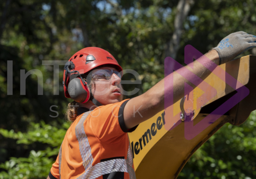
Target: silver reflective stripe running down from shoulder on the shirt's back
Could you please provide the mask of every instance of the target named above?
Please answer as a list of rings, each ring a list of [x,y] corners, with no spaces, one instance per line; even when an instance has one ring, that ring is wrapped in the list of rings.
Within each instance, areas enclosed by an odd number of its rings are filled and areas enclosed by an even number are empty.
[[[93,156],[91,153],[91,147],[88,141],[88,137],[85,134],[85,128],[83,127],[83,122],[85,121],[86,117],[89,115],[91,111],[83,113],[80,121],[75,127],[75,135],[78,139],[79,143],[79,150],[83,160],[83,167],[85,167],[85,171],[90,168],[93,164]]]

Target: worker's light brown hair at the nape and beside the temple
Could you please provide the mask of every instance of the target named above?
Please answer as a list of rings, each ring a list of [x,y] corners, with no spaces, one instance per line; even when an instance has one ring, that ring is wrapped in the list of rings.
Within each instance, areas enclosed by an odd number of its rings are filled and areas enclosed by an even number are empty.
[[[86,81],[87,75],[82,74],[81,76],[82,76],[83,80]],[[92,89],[91,88],[92,84],[93,84],[93,78],[90,76],[89,83],[88,83],[88,87],[90,89]],[[76,102],[76,101],[68,103],[68,107],[67,107],[67,110],[65,113],[65,118],[66,118],[67,122],[73,123],[75,121],[76,117],[78,117],[78,107],[79,107],[79,105],[78,105],[78,102]]]

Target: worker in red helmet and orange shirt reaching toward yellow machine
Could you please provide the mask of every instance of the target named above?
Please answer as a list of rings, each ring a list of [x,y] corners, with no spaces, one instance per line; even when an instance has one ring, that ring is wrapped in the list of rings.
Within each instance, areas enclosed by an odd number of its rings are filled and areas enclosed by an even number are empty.
[[[193,62],[190,70],[200,78],[215,63],[223,64],[256,47],[256,36],[236,32]],[[202,66],[206,57],[214,63]],[[170,94],[174,102],[184,96],[187,79],[173,73],[173,85],[164,91],[166,76],[144,94],[123,100],[122,67],[106,50],[84,48],[65,65],[63,87],[69,103],[67,117],[72,122],[61,144],[59,155],[47,179],[135,179],[133,154],[127,132],[164,109]],[[183,68],[179,69],[183,70]]]

